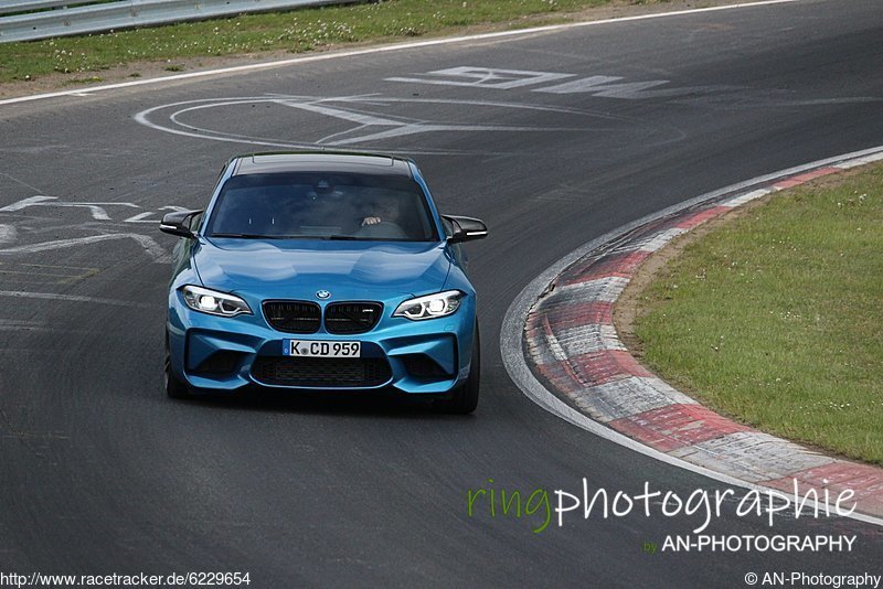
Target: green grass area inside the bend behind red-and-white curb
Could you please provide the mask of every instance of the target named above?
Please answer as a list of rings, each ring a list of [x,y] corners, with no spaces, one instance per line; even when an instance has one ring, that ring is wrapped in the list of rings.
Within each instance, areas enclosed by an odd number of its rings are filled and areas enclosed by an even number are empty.
[[[883,165],[688,245],[639,296],[645,362],[770,433],[883,464]]]

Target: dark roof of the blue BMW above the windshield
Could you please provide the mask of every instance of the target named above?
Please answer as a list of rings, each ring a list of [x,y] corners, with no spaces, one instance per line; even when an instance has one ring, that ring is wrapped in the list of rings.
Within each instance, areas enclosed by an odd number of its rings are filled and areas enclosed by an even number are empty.
[[[411,176],[409,160],[377,153],[289,151],[234,158],[232,175],[275,172],[350,172]]]

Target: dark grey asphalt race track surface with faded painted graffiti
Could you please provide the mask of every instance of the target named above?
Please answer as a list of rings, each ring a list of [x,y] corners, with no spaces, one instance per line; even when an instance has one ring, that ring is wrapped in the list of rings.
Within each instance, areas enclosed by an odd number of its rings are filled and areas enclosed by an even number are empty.
[[[741,587],[881,574],[883,528],[738,517],[717,535],[851,551],[646,554],[701,517],[576,512],[533,532],[467,491],[720,489],[544,413],[499,334],[582,244],[692,196],[883,144],[883,10],[806,1],[374,53],[0,106],[0,570],[248,571],[297,585]],[[171,207],[222,163],[315,147],[413,156],[470,244],[482,399],[175,403],[162,390]],[[491,479],[493,482],[489,482]],[[553,515],[554,517],[554,515]]]

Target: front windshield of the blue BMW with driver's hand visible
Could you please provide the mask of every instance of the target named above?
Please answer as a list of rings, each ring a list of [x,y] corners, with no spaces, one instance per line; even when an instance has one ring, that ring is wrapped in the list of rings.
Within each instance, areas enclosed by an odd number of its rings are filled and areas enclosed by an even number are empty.
[[[233,176],[217,196],[210,237],[437,240],[421,186],[405,176],[266,173]]]

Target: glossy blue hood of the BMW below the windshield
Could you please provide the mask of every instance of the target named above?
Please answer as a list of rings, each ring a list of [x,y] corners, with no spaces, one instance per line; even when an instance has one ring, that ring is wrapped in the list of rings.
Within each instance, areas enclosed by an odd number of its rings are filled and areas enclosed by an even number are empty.
[[[193,263],[208,288],[256,298],[386,299],[440,290],[450,269],[444,243],[211,238]]]

